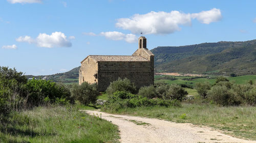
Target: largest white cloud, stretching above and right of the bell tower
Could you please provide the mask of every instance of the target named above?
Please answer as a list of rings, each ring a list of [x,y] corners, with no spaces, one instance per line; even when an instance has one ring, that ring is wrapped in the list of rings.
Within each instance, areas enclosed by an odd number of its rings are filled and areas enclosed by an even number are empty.
[[[196,18],[201,23],[209,24],[221,20],[221,11],[211,9],[200,13],[182,13],[179,11],[150,12],[135,14],[131,18],[117,19],[116,26],[130,30],[133,34],[170,34],[180,31],[180,25],[190,25],[191,19]]]

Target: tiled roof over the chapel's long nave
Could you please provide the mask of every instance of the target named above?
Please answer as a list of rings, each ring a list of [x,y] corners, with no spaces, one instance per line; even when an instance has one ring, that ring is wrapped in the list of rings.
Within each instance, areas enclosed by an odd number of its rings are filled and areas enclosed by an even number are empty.
[[[94,59],[97,62],[149,62],[147,59],[143,58],[142,56],[134,56],[134,55],[89,55],[87,56],[87,58],[89,57]]]

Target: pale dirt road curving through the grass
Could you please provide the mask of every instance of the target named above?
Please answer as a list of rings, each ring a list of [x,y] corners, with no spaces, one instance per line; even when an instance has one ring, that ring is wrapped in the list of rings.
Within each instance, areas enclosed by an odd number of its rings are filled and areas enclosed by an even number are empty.
[[[174,123],[158,119],[112,115],[100,111],[87,113],[111,121],[120,130],[121,142],[256,142],[225,135],[209,127]],[[101,113],[101,115],[100,115]]]

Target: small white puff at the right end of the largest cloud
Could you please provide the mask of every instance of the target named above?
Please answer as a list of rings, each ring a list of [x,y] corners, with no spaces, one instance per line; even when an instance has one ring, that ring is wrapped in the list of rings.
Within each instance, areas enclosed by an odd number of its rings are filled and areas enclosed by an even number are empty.
[[[213,8],[209,11],[202,11],[200,13],[191,14],[192,18],[196,18],[198,21],[204,24],[211,22],[217,22],[222,19],[221,10]]]

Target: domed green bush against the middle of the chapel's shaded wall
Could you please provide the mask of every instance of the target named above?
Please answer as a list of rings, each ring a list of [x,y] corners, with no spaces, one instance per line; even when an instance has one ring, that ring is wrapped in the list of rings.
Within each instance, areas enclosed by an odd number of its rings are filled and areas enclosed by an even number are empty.
[[[133,94],[137,92],[135,84],[131,83],[127,78],[118,78],[118,80],[111,82],[108,89],[106,89],[108,95],[112,95],[116,91],[125,91]]]

